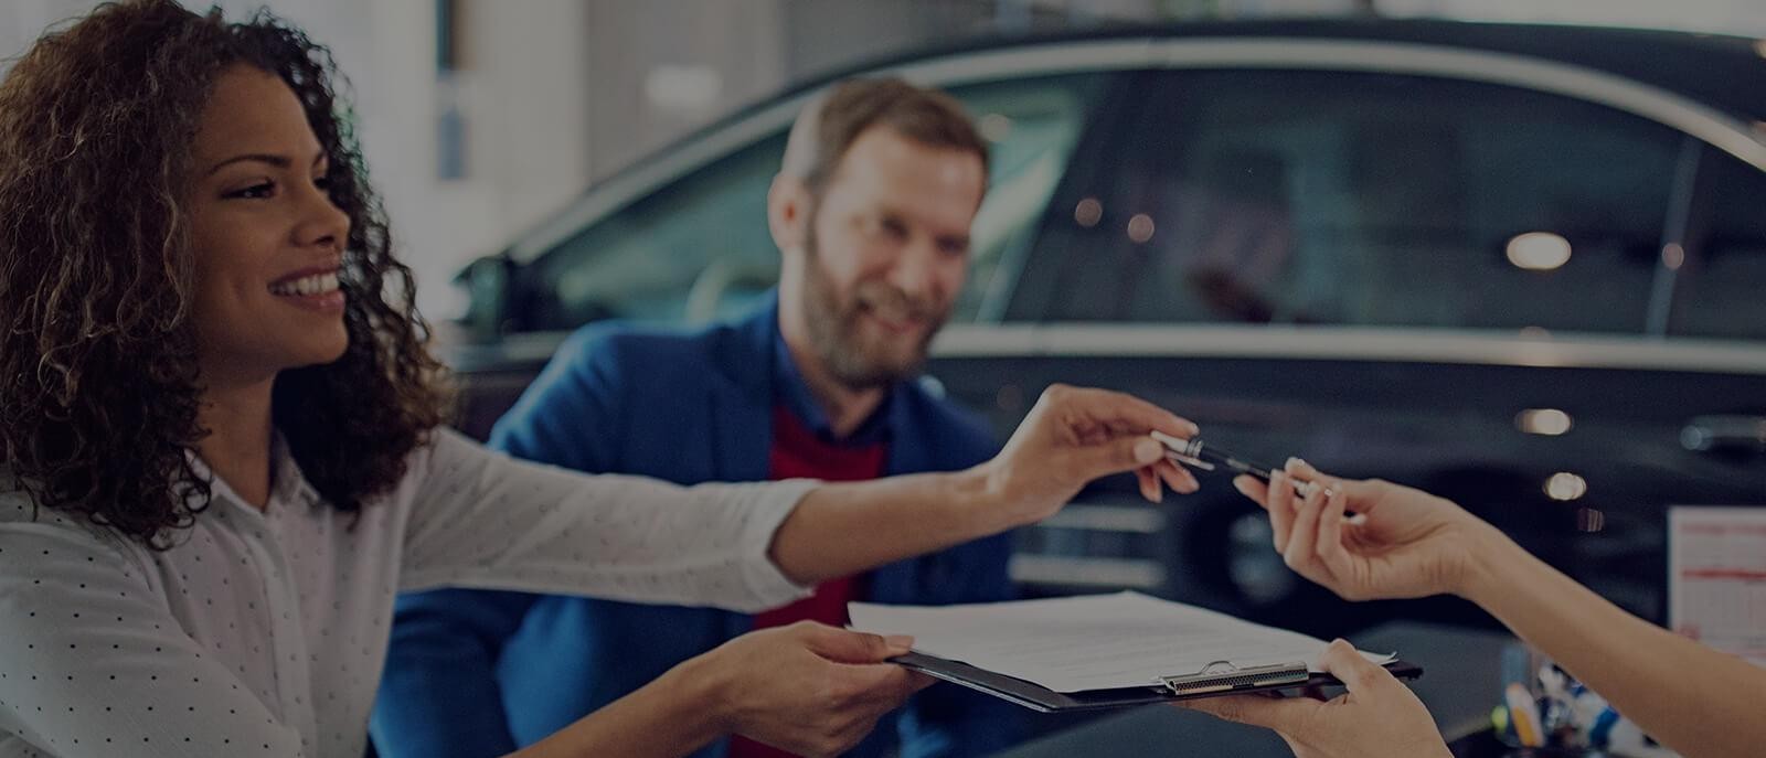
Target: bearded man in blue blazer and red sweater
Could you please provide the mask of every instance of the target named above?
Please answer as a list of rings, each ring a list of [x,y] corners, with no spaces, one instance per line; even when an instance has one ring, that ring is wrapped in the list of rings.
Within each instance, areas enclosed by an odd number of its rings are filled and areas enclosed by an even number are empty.
[[[970,265],[987,143],[948,95],[849,80],[798,115],[766,198],[777,293],[698,332],[590,325],[491,433],[514,456],[678,484],[876,479],[991,458],[987,426],[918,382]],[[849,601],[1008,599],[1008,535],[823,583],[759,615],[434,590],[399,601],[373,719],[387,758],[498,756],[752,629],[846,625]],[[634,650],[641,650],[634,654]],[[1021,731],[1010,705],[936,686],[853,753],[966,756]],[[781,756],[733,739],[699,756]]]

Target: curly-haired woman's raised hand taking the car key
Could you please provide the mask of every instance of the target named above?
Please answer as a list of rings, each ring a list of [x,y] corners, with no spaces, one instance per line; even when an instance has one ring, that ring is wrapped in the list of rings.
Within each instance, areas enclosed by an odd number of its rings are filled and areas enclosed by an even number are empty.
[[[1196,424],[1121,392],[1053,385],[1017,426],[994,459],[984,463],[991,498],[1010,509],[1012,523],[1049,518],[1086,482],[1136,472],[1141,495],[1160,500],[1160,482],[1180,493],[1197,489],[1196,477],[1166,459],[1166,447],[1148,436],[1164,431],[1189,438]]]

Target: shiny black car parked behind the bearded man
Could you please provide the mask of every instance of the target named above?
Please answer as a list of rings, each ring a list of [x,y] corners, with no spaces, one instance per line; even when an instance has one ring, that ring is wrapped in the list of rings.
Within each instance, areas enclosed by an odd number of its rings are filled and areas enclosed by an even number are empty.
[[[992,143],[927,382],[1008,431],[1051,382],[1206,438],[1452,496],[1665,615],[1665,512],[1766,504],[1766,58],[1750,39],[1445,21],[1000,41],[855,72]],[[844,74],[842,74],[844,76]],[[450,352],[482,435],[570,329],[701,322],[777,277],[766,184],[821,83],[590,189],[472,265]],[[1031,594],[1132,587],[1337,633],[1226,486],[1098,484],[1021,534]]]

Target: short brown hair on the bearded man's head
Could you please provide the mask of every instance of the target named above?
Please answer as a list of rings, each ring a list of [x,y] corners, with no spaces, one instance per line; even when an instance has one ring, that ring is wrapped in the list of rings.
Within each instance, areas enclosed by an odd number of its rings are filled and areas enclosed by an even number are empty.
[[[945,92],[897,78],[844,80],[798,113],[779,173],[796,177],[819,196],[858,134],[887,125],[909,141],[973,154],[987,180],[987,141]]]

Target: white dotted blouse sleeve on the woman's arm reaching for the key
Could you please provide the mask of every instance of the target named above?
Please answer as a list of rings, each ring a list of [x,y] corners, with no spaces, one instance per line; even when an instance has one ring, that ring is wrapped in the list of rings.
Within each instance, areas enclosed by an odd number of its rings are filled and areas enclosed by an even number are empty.
[[[816,482],[682,488],[517,461],[452,429],[411,466],[401,590],[442,585],[775,608],[807,594],[768,557]]]

